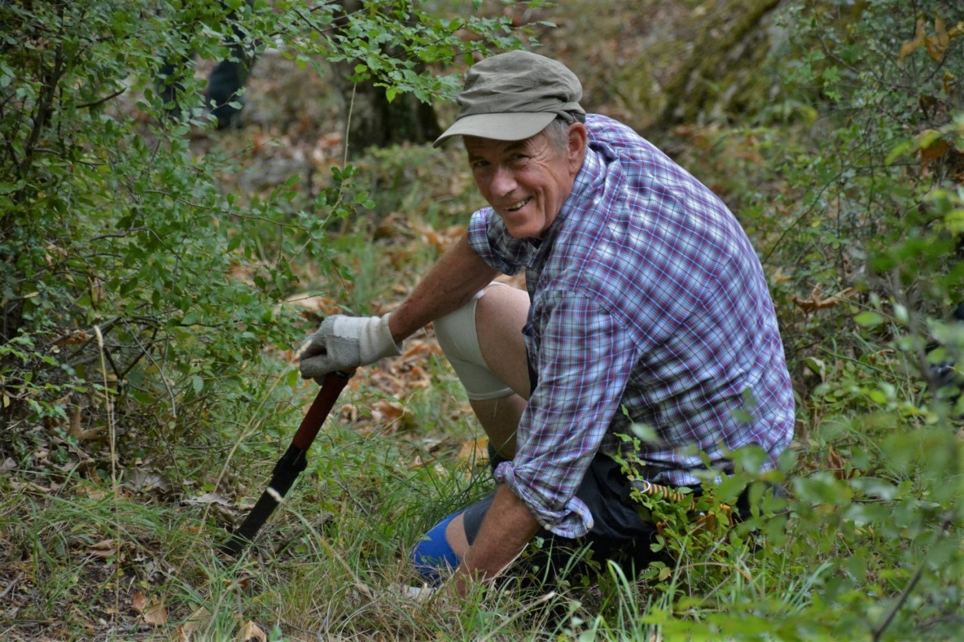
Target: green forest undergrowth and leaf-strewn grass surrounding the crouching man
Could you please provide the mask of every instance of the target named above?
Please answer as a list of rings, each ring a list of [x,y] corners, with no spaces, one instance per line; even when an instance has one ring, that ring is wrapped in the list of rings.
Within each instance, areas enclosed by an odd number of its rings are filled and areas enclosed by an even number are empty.
[[[442,3],[401,21],[369,3],[357,32],[298,3],[225,3],[251,12],[261,47],[227,131],[200,97],[227,53],[227,9],[147,4],[0,7],[21,30],[0,49],[0,637],[878,640],[964,627],[956,3],[476,3],[470,29],[433,22]],[[188,20],[205,28],[172,37]],[[715,40],[700,36],[710,24]],[[456,38],[460,26],[482,40]],[[528,564],[464,601],[417,597],[408,550],[494,485],[428,327],[352,378],[254,546],[222,555],[317,389],[293,348],[329,314],[390,311],[483,204],[456,145],[347,162],[350,110],[329,63],[357,58],[359,80],[439,98],[444,120],[442,72],[464,68],[466,42],[536,37],[583,77],[590,111],[667,150],[750,235],[797,404],[780,468],[734,453],[698,522],[640,497],[672,563],[639,577]],[[417,43],[439,79],[379,49],[392,38]],[[187,61],[180,115],[150,73],[167,49]],[[679,87],[699,96],[692,109],[659,94]],[[733,524],[727,505],[748,486],[753,514]]]

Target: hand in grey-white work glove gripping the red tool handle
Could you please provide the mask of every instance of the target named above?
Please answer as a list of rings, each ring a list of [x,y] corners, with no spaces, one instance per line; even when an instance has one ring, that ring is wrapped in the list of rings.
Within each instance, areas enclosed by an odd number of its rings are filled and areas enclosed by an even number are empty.
[[[295,354],[302,377],[324,377],[335,370],[350,370],[402,354],[402,347],[388,330],[388,316],[335,314],[322,321]]]

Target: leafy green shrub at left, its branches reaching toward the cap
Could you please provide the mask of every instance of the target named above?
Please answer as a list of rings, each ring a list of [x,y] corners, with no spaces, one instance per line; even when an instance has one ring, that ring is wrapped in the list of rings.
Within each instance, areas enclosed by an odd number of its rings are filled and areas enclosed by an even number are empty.
[[[9,27],[0,58],[3,428],[63,422],[92,387],[110,388],[130,421],[184,437],[199,417],[249,403],[253,379],[277,369],[264,347],[303,334],[298,315],[278,306],[297,287],[295,266],[334,269],[325,222],[373,205],[352,187],[351,167],[335,169],[304,209],[294,206],[296,179],[262,197],[224,193],[218,177],[234,162],[192,151],[191,132],[211,120],[193,55],[223,59],[240,39],[254,57],[272,42],[299,62],[356,59],[359,79],[428,100],[451,93],[455,76],[412,70],[468,56],[458,28],[483,37],[473,48],[519,41],[504,16],[453,20],[408,2],[348,15],[335,3],[300,5],[0,10]],[[388,40],[404,54],[385,54]],[[166,81],[156,77],[164,61],[176,63]],[[165,83],[173,102],[159,94]],[[285,394],[293,383],[281,382]]]

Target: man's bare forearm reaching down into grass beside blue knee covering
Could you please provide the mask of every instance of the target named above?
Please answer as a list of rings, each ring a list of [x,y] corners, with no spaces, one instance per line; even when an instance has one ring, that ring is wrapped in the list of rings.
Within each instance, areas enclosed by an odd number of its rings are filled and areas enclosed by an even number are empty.
[[[454,577],[460,594],[466,593],[466,579],[491,579],[512,563],[538,532],[539,522],[509,487],[500,484],[492,506],[466,552]]]

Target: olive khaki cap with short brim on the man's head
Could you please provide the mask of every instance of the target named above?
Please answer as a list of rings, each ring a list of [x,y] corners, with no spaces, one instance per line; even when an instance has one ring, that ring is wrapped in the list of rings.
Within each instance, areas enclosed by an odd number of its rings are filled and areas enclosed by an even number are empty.
[[[453,136],[522,141],[556,116],[585,114],[582,85],[557,61],[529,51],[509,51],[473,65],[456,98],[459,116],[433,147]]]

